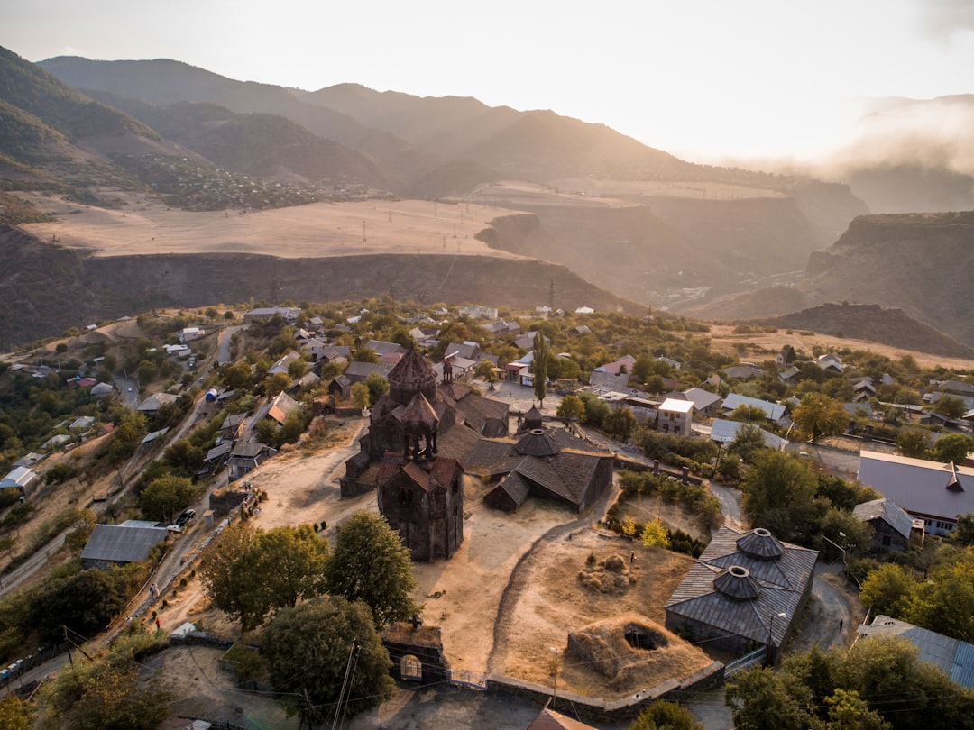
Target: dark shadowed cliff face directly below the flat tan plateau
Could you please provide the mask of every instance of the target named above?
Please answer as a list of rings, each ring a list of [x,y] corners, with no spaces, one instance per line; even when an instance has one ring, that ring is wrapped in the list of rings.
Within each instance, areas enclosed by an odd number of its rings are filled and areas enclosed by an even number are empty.
[[[633,310],[563,266],[463,255],[281,259],[247,254],[85,256],[0,228],[0,343],[52,337],[153,307],[253,299],[324,302],[392,293],[419,302]]]

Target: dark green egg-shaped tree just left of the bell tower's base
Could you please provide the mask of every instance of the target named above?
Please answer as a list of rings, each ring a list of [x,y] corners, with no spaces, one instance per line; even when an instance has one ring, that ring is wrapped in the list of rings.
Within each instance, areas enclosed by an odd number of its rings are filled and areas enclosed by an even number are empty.
[[[418,608],[409,550],[381,515],[356,512],[342,524],[324,575],[329,594],[365,603],[380,628]]]

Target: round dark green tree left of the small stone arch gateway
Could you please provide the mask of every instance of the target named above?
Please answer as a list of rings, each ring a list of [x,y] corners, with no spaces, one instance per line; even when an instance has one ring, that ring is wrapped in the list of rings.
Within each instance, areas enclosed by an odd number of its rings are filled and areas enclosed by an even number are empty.
[[[348,712],[364,712],[393,696],[392,662],[368,608],[339,596],[303,602],[281,610],[267,625],[264,650],[271,680],[280,692],[307,693],[323,722],[345,685]],[[309,718],[311,719],[311,718]]]

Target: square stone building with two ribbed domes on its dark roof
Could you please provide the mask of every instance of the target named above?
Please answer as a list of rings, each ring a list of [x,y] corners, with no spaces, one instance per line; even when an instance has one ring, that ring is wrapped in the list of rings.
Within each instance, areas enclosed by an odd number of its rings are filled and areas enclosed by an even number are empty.
[[[773,663],[811,595],[817,560],[767,529],[725,525],[663,606],[665,626],[735,654],[764,644]]]

